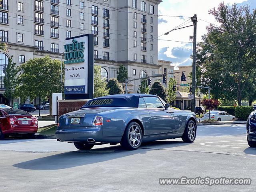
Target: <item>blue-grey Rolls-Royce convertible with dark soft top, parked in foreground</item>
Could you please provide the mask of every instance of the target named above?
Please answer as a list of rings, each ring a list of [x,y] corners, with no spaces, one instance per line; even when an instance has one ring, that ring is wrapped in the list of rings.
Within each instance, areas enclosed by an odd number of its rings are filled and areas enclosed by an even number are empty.
[[[142,142],[173,138],[193,142],[196,115],[171,108],[156,95],[103,96],[60,116],[56,138],[74,143],[79,150],[107,143],[135,150]]]

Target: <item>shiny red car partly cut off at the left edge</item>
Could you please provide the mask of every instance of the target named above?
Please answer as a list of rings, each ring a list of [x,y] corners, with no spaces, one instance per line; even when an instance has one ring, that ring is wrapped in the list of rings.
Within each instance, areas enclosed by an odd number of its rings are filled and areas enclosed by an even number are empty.
[[[11,134],[26,134],[34,137],[38,120],[20,109],[0,109],[0,139]]]

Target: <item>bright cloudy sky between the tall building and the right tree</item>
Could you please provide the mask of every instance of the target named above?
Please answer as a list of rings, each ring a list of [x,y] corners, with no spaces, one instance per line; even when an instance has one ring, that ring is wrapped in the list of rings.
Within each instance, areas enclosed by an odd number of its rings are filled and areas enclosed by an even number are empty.
[[[160,15],[158,17],[158,36],[183,22],[186,24],[184,26],[192,24],[190,18],[170,16],[191,17],[197,14],[197,42],[201,41],[201,36],[206,33],[206,26],[209,25],[209,23],[202,20],[218,24],[214,17],[208,14],[208,11],[214,7],[217,8],[220,2],[228,5],[234,3],[238,5],[248,4],[251,9],[256,8],[256,0],[163,0],[158,6],[158,14]],[[191,65],[192,41],[189,40],[189,36],[193,36],[193,27],[175,30],[168,35],[160,36],[158,38],[158,59],[172,61],[175,69],[178,66]]]

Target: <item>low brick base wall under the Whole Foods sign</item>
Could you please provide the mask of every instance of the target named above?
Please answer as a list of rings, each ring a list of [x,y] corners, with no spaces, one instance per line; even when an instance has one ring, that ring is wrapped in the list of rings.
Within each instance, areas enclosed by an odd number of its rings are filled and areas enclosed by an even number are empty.
[[[58,101],[58,114],[61,116],[63,114],[79,110],[88,99],[81,99],[81,100],[59,100]]]

